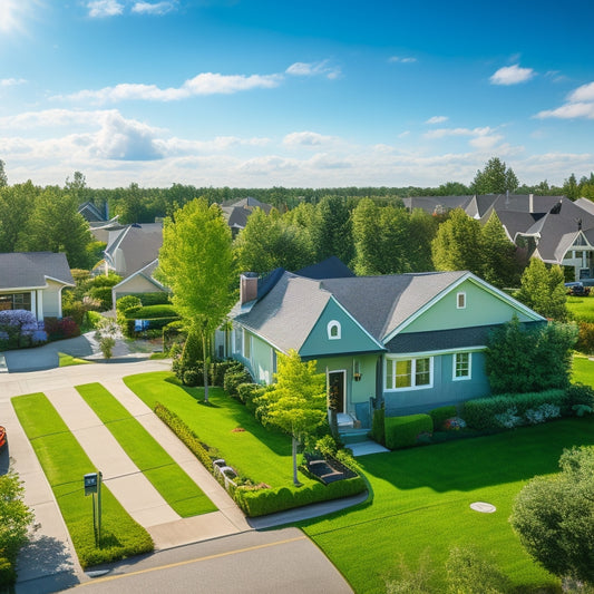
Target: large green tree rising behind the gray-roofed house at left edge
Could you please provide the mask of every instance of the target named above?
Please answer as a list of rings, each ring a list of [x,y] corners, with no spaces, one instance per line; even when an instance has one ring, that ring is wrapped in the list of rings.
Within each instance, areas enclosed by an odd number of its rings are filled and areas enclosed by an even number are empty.
[[[84,269],[89,265],[87,246],[91,241],[89,225],[78,212],[77,199],[46,189],[37,197],[17,247],[28,252],[64,252],[70,267]]]

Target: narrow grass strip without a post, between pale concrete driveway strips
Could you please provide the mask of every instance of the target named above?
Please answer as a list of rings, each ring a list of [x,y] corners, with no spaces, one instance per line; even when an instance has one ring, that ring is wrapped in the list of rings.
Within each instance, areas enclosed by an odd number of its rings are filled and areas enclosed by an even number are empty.
[[[177,514],[188,517],[216,510],[202,489],[100,383],[77,386],[77,390]]]

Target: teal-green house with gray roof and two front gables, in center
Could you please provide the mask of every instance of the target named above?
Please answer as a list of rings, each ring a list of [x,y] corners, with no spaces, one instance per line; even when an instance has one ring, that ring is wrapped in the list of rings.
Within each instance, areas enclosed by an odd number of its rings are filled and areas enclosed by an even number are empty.
[[[381,402],[395,416],[488,395],[489,331],[545,322],[470,272],[311,276],[243,274],[230,354],[261,383],[279,352],[315,359],[338,411],[362,427]]]

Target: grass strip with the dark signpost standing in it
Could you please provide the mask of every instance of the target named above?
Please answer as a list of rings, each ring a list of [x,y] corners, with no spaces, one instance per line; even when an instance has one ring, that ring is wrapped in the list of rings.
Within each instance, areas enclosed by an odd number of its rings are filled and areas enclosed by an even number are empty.
[[[19,396],[12,405],[53,490],[82,567],[153,551],[149,534],[105,485],[101,547],[96,548],[91,497],[85,496],[82,486],[84,475],[95,471],[92,462],[45,395]]]

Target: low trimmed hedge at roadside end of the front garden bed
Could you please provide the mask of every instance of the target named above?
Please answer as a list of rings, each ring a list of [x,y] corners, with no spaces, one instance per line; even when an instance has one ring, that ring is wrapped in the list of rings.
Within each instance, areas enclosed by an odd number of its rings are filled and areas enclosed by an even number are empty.
[[[363,493],[366,489],[367,485],[361,477],[337,480],[329,485],[314,483],[306,487],[291,486],[257,490],[237,487],[235,502],[246,516],[257,517],[330,499],[342,499]]]

